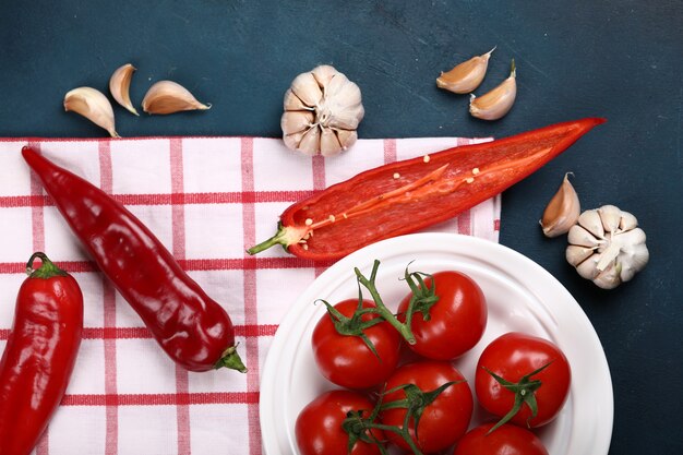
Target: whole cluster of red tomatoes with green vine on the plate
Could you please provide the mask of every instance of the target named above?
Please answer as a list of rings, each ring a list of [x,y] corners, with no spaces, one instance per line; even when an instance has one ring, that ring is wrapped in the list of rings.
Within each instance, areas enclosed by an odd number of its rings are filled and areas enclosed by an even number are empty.
[[[474,387],[494,420],[468,431],[475,399],[452,361],[482,337],[483,292],[458,272],[406,271],[411,290],[396,314],[390,313],[374,287],[378,265],[370,280],[357,272],[373,301],[325,302],[328,314],[313,331],[320,371],[344,388],[301,410],[300,453],[386,454],[390,446],[415,455],[548,455],[530,429],[552,421],[566,400],[571,370],[563,352],[523,333],[489,344]]]

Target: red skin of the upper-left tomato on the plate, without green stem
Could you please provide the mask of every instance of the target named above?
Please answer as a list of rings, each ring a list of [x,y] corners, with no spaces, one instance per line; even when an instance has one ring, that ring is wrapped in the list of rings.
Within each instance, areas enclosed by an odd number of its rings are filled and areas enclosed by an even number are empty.
[[[363,308],[374,307],[363,301]],[[345,300],[334,306],[345,316],[351,316],[358,300]],[[367,314],[363,320],[375,318]],[[325,313],[313,330],[313,357],[321,373],[331,382],[347,388],[370,388],[383,384],[398,364],[400,335],[387,322],[364,331],[378,351],[375,356],[357,336],[339,335],[332,318]]]

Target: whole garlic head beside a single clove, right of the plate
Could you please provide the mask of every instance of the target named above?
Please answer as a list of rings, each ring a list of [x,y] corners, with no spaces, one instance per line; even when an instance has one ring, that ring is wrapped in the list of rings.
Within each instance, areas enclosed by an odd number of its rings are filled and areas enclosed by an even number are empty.
[[[640,272],[649,260],[645,231],[628,212],[603,205],[584,212],[570,229],[566,260],[580,276],[613,289]]]

